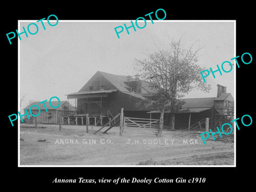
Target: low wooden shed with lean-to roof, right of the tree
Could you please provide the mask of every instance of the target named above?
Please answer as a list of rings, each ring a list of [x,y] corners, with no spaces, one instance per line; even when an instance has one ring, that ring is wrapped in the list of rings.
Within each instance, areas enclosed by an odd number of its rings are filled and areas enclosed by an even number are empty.
[[[182,109],[175,113],[175,129],[204,129],[205,118],[209,118],[210,129],[221,127],[234,116],[234,98],[231,93],[226,93],[226,87],[217,85],[217,97],[180,99],[185,101]],[[151,118],[159,118],[159,111],[149,111]],[[194,126],[195,125],[195,126]],[[164,114],[165,128],[170,126],[170,111]]]

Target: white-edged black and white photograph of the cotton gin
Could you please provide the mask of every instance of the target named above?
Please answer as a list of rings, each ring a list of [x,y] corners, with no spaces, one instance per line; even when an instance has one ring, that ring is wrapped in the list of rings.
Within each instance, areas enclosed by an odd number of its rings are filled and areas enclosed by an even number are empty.
[[[234,119],[236,22],[145,21],[19,42],[20,166],[235,166],[232,127],[207,133]]]

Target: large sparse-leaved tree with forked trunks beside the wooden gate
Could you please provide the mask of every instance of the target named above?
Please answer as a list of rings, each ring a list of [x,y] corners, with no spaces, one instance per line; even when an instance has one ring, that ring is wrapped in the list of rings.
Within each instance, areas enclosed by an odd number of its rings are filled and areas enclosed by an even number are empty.
[[[170,110],[170,123],[174,130],[174,114],[183,105],[178,98],[184,97],[194,89],[204,92],[209,92],[211,89],[201,77],[200,72],[204,68],[197,64],[201,47],[193,51],[193,46],[194,44],[188,50],[183,49],[180,38],[179,41],[171,41],[169,50],[158,49],[154,53],[146,54],[146,59],[135,59],[134,69],[157,90],[152,97],[142,101],[142,105],[161,112],[158,137],[162,135],[166,110]]]

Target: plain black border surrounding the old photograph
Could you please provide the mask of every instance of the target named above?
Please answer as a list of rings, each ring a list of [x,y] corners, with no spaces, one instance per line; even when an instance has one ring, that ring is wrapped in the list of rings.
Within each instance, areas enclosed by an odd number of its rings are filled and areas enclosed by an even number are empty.
[[[255,69],[255,30],[253,18],[255,11],[253,4],[223,2],[181,2],[179,4],[147,2],[19,2],[17,4],[3,4],[2,6],[2,180],[8,188],[18,187],[24,190],[83,190],[114,188],[143,187],[145,189],[166,188],[164,190],[188,189],[194,190],[220,190],[223,188],[235,189],[237,186],[249,188],[254,182],[254,137],[255,137],[255,103],[254,103],[254,70]],[[249,52],[253,61],[250,65],[244,65],[240,58],[240,68],[236,70],[236,116],[241,118],[249,114],[253,124],[244,127],[239,123],[241,130],[237,131],[237,167],[18,167],[18,127],[14,123],[11,126],[8,115],[17,114],[18,111],[18,41],[12,41],[12,45],[5,34],[18,29],[18,20],[39,20],[47,18],[50,14],[57,15],[59,20],[135,20],[143,15],[164,9],[167,17],[165,20],[236,20],[236,55]],[[160,17],[161,18],[161,17]],[[146,30],[146,29],[145,29]],[[216,55],[218,57],[218,55]],[[227,58],[227,60],[230,58]],[[211,61],[209,61],[211,62]],[[218,64],[218,63],[217,63]],[[33,81],[33,79],[31,79]],[[252,174],[251,174],[252,173]],[[136,177],[143,179],[182,177],[205,177],[205,183],[169,183],[169,184],[88,184],[88,183],[52,183],[59,179],[115,179]]]

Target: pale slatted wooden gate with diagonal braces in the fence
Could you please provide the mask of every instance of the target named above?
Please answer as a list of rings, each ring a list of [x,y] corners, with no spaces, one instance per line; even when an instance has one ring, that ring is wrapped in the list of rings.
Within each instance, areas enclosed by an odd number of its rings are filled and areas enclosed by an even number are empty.
[[[124,117],[124,126],[127,127],[157,128],[158,123],[159,119]]]

